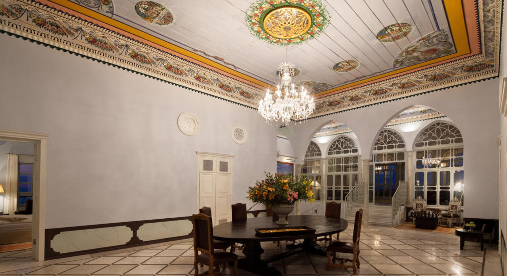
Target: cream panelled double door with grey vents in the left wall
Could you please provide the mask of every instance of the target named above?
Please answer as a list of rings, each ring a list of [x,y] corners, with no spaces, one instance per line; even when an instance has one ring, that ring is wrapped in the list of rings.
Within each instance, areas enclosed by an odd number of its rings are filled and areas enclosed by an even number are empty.
[[[214,225],[232,219],[232,157],[198,155],[198,208],[211,208]]]

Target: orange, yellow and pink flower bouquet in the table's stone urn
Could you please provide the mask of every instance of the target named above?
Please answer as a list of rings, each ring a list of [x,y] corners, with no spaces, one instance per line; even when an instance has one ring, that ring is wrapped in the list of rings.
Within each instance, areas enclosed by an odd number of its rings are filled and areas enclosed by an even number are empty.
[[[292,175],[271,175],[266,172],[266,179],[257,181],[253,187],[248,187],[248,196],[254,203],[263,203],[266,206],[279,204],[294,204],[299,200],[315,200],[313,196],[313,183],[306,176],[300,178]]]

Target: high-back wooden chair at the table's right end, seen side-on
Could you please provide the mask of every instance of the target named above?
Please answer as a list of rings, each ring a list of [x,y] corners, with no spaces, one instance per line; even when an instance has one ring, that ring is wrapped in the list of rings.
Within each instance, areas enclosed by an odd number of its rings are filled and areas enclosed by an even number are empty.
[[[352,243],[337,240],[328,246],[328,265],[326,266],[327,270],[329,270],[331,266],[335,266],[341,268],[352,268],[354,274],[357,272],[357,268],[359,268],[359,237],[361,236],[361,222],[363,222],[363,209],[359,209],[357,212],[355,212]],[[337,252],[350,253],[353,257],[352,259],[337,258]],[[333,257],[331,257],[331,255],[333,255]],[[336,263],[337,260],[339,261],[338,264]],[[346,262],[352,262],[352,264],[346,265]]]

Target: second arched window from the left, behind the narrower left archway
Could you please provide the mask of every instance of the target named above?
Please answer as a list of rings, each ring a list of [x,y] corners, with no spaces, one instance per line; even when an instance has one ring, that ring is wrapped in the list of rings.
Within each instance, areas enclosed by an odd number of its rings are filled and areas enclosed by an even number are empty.
[[[350,188],[359,181],[359,155],[350,137],[338,136],[329,146],[326,160],[326,198],[344,200]]]

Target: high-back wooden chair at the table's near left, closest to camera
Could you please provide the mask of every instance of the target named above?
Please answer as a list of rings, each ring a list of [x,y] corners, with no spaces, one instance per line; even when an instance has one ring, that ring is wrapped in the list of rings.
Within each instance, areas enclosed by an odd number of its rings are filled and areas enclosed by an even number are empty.
[[[199,275],[198,263],[207,265],[209,276],[213,276],[213,267],[216,267],[218,275],[221,275],[220,265],[223,264],[225,267],[229,262],[234,262],[233,274],[237,275],[238,255],[214,251],[211,217],[204,214],[192,215],[192,225],[194,227],[194,275]]]

